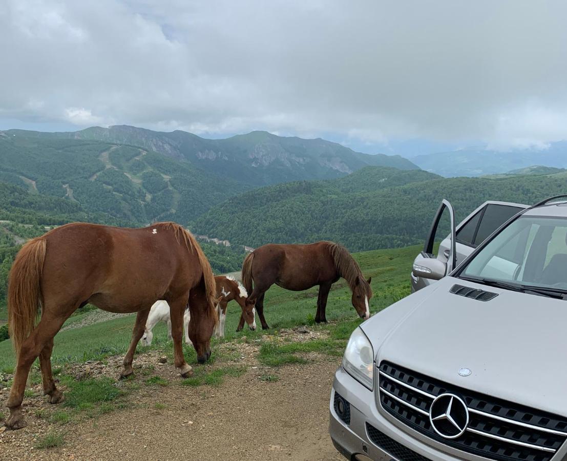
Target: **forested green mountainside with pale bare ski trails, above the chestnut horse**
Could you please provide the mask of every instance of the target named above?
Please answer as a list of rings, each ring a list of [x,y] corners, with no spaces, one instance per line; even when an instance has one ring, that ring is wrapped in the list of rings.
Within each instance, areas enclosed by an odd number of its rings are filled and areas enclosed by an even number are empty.
[[[64,201],[57,207],[67,214],[101,213],[136,224],[186,223],[248,188],[187,162],[107,142],[4,133],[0,152],[0,181],[64,198],[67,208]]]

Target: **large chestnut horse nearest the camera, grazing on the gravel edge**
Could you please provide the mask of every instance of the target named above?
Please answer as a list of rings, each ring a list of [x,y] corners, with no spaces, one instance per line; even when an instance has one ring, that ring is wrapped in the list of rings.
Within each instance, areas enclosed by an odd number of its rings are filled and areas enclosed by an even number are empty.
[[[183,357],[181,330],[188,300],[193,318],[189,336],[200,362],[210,356],[218,322],[213,272],[189,232],[172,222],[145,229],[72,223],[27,242],[12,264],[8,287],[8,321],[18,363],[6,426],[26,425],[21,404],[37,356],[49,402],[62,400],[51,371],[53,337],[78,307],[92,303],[109,312],[138,313],[121,372],[127,377],[133,373],[134,351],[150,306],[158,299],[170,305],[174,362],[187,376],[191,367]]]

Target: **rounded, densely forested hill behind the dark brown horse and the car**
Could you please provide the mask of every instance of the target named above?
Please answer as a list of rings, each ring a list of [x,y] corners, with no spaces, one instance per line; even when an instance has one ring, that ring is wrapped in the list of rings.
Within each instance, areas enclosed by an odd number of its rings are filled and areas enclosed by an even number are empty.
[[[361,251],[423,242],[443,198],[451,201],[460,220],[486,200],[531,204],[567,193],[563,173],[503,179],[428,179],[426,172],[416,171],[406,173],[403,181],[408,184],[395,187],[386,187],[388,181],[378,180],[383,176],[379,170],[360,174],[374,175],[375,180],[367,181],[366,190],[365,186],[357,190],[357,181],[349,178],[256,189],[214,206],[192,223],[192,229],[252,247],[328,239],[345,244],[351,251]],[[346,182],[346,190],[341,189],[340,181]],[[380,188],[382,185],[384,188]]]

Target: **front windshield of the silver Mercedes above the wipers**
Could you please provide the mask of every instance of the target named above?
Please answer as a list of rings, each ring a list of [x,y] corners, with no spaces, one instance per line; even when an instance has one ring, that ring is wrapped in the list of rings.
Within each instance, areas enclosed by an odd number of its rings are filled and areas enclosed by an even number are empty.
[[[469,261],[460,277],[567,291],[567,219],[523,215]]]

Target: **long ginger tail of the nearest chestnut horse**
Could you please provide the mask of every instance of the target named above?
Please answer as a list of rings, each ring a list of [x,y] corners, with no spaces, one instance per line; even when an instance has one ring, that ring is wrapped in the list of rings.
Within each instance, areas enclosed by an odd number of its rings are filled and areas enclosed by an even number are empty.
[[[41,307],[40,278],[45,261],[46,240],[29,240],[16,255],[8,281],[8,328],[16,357],[35,327]]]

